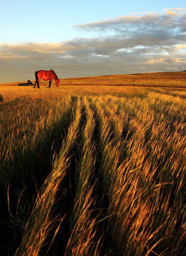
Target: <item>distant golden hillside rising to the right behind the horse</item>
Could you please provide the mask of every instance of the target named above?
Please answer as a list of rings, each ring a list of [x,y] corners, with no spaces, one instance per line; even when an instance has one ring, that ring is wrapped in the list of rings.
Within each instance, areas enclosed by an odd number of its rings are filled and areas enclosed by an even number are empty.
[[[35,81],[32,80],[34,83]],[[48,81],[41,81],[41,85],[48,85]],[[55,85],[55,82],[52,82]],[[24,82],[6,83],[0,85],[26,85]],[[61,85],[114,85],[114,86],[148,86],[148,87],[186,87],[186,71],[159,72],[145,74],[88,76],[60,79]]]

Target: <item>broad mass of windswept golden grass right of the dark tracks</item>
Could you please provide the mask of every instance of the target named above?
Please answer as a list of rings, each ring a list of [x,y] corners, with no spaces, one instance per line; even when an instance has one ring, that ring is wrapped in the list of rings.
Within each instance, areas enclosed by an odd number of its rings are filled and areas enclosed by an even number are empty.
[[[169,97],[164,96],[164,99],[169,100]],[[132,115],[128,118],[125,108],[123,111],[120,107],[117,119],[118,109],[117,106],[112,108],[113,101],[110,104],[108,101],[105,104],[104,99],[99,101],[96,108],[102,172],[110,204],[108,214],[112,214],[109,217],[110,236],[116,254],[184,255],[185,200],[181,198],[185,198],[185,133],[182,134],[180,126],[185,129],[185,110],[180,113],[175,103],[168,103],[167,111],[158,111],[159,115],[155,116],[151,110],[153,104],[148,99],[125,99],[123,107],[130,108],[128,112]],[[175,102],[173,97],[172,101]],[[179,101],[179,107],[183,102]],[[181,123],[179,128],[177,119]],[[122,124],[127,122],[128,133],[122,138]],[[171,131],[170,125],[173,126]],[[127,149],[124,159],[121,148]],[[177,240],[178,232],[182,238]]]

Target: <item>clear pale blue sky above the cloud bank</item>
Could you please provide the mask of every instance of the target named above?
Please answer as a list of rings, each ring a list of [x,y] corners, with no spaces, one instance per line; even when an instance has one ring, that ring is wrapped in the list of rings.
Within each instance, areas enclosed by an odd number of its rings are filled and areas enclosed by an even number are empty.
[[[51,5],[52,3],[52,5]],[[176,5],[175,5],[176,3]],[[186,8],[185,1],[2,1],[0,43],[59,43],[81,33],[76,24],[86,24],[139,12],[161,12],[165,8]],[[4,11],[3,11],[4,10]]]

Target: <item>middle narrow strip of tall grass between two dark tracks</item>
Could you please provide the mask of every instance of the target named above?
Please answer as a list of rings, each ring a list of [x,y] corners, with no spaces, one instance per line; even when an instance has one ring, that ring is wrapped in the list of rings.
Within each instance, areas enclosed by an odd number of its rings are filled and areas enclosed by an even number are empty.
[[[71,236],[65,255],[98,255],[101,236],[97,230],[98,216],[95,214],[93,190],[94,181],[94,144],[91,141],[95,127],[93,111],[89,108],[87,97],[83,98],[86,124],[81,137],[81,161],[77,168],[77,186],[74,209],[71,215]]]

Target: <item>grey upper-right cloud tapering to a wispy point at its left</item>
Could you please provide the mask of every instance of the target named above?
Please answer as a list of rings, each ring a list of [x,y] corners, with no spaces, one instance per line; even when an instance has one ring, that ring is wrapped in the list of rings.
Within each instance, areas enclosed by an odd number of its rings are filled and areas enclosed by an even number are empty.
[[[172,45],[185,42],[186,14],[176,16],[146,13],[143,16],[125,15],[112,20],[76,25],[84,31],[97,31],[120,37],[124,42],[140,45]]]

